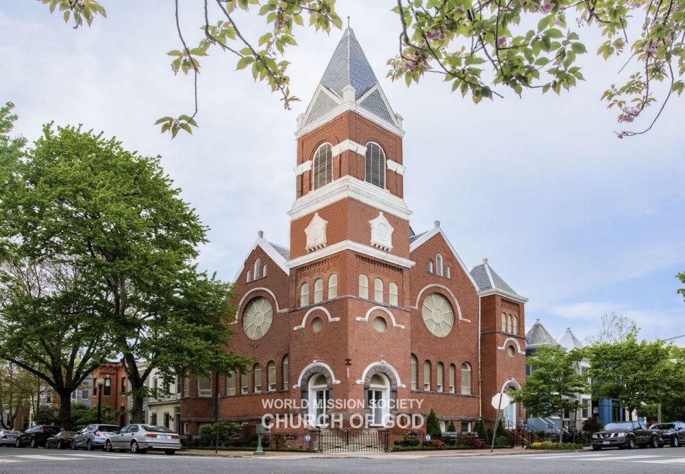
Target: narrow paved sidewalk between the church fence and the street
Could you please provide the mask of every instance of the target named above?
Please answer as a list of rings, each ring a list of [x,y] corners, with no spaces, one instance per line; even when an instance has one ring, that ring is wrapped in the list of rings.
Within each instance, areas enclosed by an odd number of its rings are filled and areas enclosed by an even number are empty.
[[[586,447],[583,451],[586,451]],[[540,454],[540,453],[568,453],[578,452],[577,449],[551,451],[549,449],[496,449],[490,453],[489,449],[445,449],[440,451],[393,451],[390,453],[306,453],[298,451],[264,451],[264,455],[254,455],[253,451],[221,451],[214,453],[210,449],[188,449],[187,451],[176,451],[176,455],[182,456],[216,456],[219,458],[440,458],[455,456],[497,456],[512,454]]]

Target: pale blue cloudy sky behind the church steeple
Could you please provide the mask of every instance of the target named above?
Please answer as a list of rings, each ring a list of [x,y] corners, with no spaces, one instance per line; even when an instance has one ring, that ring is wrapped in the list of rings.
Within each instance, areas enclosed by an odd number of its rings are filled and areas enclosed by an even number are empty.
[[[340,32],[299,29],[288,60],[302,99],[279,97],[218,51],[203,60],[199,130],[170,141],[153,122],[192,110],[189,78],[175,77],[169,1],[106,1],[108,19],[72,29],[38,2],[0,6],[0,100],[16,104],[18,132],[83,123],[125,147],[162,156],[183,197],[210,226],[202,268],[232,279],[257,230],[288,245],[286,211],[295,198],[295,118],[314,93]],[[582,340],[604,313],[634,318],[642,335],[685,334],[675,293],[685,270],[683,99],[672,99],[649,134],[620,141],[617,113],[599,97],[626,58],[582,57],[586,82],[560,97],[525,93],[475,105],[438,78],[406,88],[384,78],[397,53],[392,1],[339,1],[395,111],[404,117],[405,198],[417,232],[441,225],[467,266],[488,257],[530,298],[526,327],[539,318],[553,335],[571,327]],[[189,43],[199,10],[182,10]],[[240,15],[244,17],[243,15]],[[256,39],[262,19],[246,19]],[[580,29],[589,51],[599,38]],[[636,123],[635,127],[644,123]],[[680,344],[685,342],[682,338]]]

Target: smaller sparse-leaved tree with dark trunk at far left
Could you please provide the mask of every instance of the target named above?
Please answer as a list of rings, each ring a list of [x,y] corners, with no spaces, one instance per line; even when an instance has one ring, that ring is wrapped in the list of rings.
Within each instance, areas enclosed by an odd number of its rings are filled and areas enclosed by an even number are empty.
[[[3,193],[0,207],[11,202]],[[99,316],[97,292],[75,261],[34,261],[18,257],[20,246],[8,248],[15,258],[0,265],[0,358],[58,394],[60,425],[69,429],[72,392],[114,355],[109,321]],[[38,403],[37,394],[32,398]]]

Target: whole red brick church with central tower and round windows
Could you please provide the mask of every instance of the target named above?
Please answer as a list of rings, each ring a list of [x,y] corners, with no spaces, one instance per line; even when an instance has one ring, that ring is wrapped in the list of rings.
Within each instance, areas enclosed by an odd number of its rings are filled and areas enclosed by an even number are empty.
[[[382,426],[434,409],[443,429],[469,431],[493,422],[495,393],[525,383],[527,299],[487,259],[469,270],[439,222],[412,230],[403,137],[348,28],[297,119],[290,248],[260,232],[236,275],[230,349],[257,363],[220,377],[221,420],[362,414]],[[185,432],[214,420],[214,383],[184,380]],[[508,427],[525,418],[516,405],[503,413]]]

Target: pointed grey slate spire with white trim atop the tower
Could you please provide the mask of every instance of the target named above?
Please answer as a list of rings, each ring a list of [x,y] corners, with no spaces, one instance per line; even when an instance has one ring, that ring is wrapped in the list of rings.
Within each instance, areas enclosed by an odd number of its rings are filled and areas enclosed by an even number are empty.
[[[402,117],[393,112],[354,32],[340,38],[307,111],[298,117],[298,135],[343,110],[353,110],[402,134]]]

